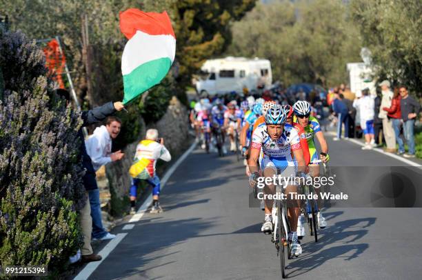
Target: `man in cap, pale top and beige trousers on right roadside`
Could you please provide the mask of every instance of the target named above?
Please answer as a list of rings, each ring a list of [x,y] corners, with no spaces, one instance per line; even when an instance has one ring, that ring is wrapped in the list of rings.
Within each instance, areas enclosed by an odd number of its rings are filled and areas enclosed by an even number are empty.
[[[393,98],[393,93],[390,90],[390,81],[382,81],[379,86],[381,86],[381,94],[383,95],[381,99],[381,108],[390,108]],[[396,137],[392,127],[392,121],[388,117],[387,111],[379,110],[378,117],[383,121],[383,134],[385,143],[387,144],[385,152],[396,152]]]

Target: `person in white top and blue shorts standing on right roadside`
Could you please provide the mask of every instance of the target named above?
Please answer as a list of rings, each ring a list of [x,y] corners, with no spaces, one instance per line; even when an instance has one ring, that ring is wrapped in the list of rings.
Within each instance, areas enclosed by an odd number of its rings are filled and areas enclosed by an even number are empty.
[[[354,108],[359,108],[361,128],[365,134],[365,146],[362,150],[370,150],[374,146],[374,98],[370,97],[368,88],[362,90],[362,97],[353,103]]]

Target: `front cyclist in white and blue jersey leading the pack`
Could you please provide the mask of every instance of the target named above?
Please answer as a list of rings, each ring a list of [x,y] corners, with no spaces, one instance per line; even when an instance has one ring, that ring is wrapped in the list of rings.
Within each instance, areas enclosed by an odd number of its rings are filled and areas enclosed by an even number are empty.
[[[265,126],[259,126],[252,134],[252,144],[248,166],[250,168],[250,186],[257,184],[260,177],[258,161],[259,155],[263,153],[261,159],[261,173],[263,177],[272,178],[277,175],[277,169],[281,170],[281,177],[305,177],[305,161],[299,141],[297,130],[293,126],[285,123],[286,114],[281,106],[277,105],[268,110],[265,114]],[[297,163],[292,157],[292,153]],[[299,171],[297,171],[299,170]],[[291,192],[297,192],[297,186],[294,182],[286,187],[288,201],[288,217],[290,226],[297,228],[297,220],[300,214],[299,201],[290,199]],[[275,186],[271,183],[263,188],[265,194],[274,194]],[[265,219],[261,232],[272,232],[272,206],[273,200],[265,199]],[[292,240],[292,253],[297,257],[302,253],[301,245],[298,241],[297,232],[289,232],[289,238]]]

